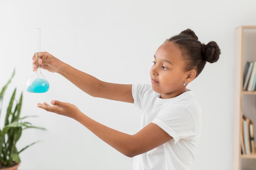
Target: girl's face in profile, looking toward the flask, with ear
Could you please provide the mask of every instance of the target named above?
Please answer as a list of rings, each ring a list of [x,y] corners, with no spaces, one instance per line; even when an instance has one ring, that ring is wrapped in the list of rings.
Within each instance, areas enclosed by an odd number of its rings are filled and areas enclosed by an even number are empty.
[[[176,97],[186,91],[184,83],[191,82],[188,79],[190,73],[184,70],[185,61],[177,45],[164,42],[155,52],[153,63],[150,69],[151,84],[161,98]]]

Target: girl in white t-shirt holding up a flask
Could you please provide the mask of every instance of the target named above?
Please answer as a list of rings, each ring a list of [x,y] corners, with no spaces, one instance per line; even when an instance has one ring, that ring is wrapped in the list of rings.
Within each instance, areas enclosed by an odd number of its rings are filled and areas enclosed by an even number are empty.
[[[201,110],[187,84],[197,77],[206,62],[216,62],[216,42],[202,44],[191,29],[166,40],[155,52],[150,69],[151,84],[112,84],[41,53],[33,70],[41,67],[63,75],[93,97],[134,103],[142,110],[141,130],[134,135],[108,128],[83,114],[73,104],[52,100],[39,108],[71,117],[107,144],[134,157],[133,170],[189,170],[201,132]]]

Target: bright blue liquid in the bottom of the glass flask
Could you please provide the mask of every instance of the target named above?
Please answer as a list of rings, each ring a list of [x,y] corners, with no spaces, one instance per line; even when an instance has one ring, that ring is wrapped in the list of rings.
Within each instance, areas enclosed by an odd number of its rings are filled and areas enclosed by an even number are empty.
[[[49,90],[49,83],[46,79],[37,78],[27,88],[30,93],[45,93]]]

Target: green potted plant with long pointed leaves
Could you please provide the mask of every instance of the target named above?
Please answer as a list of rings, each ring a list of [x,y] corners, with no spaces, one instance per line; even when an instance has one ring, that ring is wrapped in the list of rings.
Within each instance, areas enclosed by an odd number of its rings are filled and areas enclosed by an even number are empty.
[[[2,111],[3,97],[4,92],[7,89],[7,86],[11,83],[11,79],[15,74],[15,70],[11,78],[8,80],[7,84],[4,85],[0,93],[0,115]],[[17,170],[20,164],[19,154],[23,150],[27,149],[29,146],[36,144],[38,141],[25,146],[18,151],[16,148],[17,141],[20,139],[22,130],[27,128],[38,128],[40,127],[32,126],[31,123],[23,121],[27,117],[20,117],[20,110],[22,105],[22,93],[19,100],[15,100],[16,88],[14,89],[9,105],[7,106],[7,111],[4,121],[0,119],[1,122],[4,122],[3,127],[0,124],[0,170]],[[1,118],[1,117],[0,117]],[[16,168],[16,169],[11,169]]]

